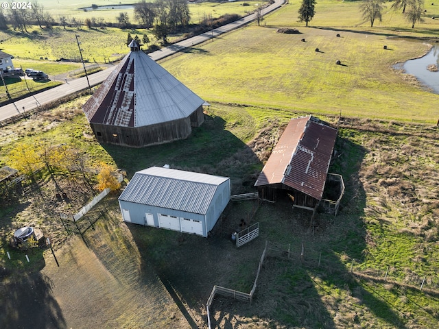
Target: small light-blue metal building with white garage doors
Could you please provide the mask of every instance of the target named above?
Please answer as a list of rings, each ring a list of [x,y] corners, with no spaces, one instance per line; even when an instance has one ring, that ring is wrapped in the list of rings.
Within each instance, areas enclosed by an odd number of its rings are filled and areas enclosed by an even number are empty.
[[[230,178],[151,167],[119,197],[123,221],[207,237],[230,200]]]

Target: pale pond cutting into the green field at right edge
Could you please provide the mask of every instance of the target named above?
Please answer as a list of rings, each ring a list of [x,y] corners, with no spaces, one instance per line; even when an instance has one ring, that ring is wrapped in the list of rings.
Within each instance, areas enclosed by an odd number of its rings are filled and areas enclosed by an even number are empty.
[[[414,75],[420,82],[429,86],[434,93],[439,94],[439,72],[431,72],[427,69],[430,64],[439,66],[439,45],[434,45],[427,55],[407,60],[404,64],[399,64],[398,69],[404,69],[405,73]]]

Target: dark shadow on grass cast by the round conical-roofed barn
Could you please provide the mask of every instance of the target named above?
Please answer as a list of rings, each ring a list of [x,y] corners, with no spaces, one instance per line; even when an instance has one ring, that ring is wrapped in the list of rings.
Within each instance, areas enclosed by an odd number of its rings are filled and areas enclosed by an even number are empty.
[[[241,191],[250,188],[246,182],[254,174],[247,172],[261,167],[261,161],[246,143],[224,129],[224,119],[206,114],[204,118],[202,126],[194,128],[185,140],[141,149],[108,144],[102,147],[117,167],[126,170],[128,178],[141,169],[170,164],[173,169],[230,177],[232,194],[244,193]]]

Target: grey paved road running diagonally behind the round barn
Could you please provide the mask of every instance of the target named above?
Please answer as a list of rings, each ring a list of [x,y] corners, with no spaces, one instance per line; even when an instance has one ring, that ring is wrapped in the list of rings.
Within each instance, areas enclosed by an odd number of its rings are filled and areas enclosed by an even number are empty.
[[[263,14],[268,14],[273,10],[281,7],[283,5],[284,0],[275,0],[275,2],[264,8]],[[154,53],[150,53],[150,57],[153,60],[161,60],[167,56],[172,55],[178,51],[182,51],[183,49],[187,49],[192,47],[193,45],[198,45],[206,40],[211,38],[215,38],[220,34],[232,31],[233,29],[237,29],[242,25],[249,23],[250,21],[254,21],[256,19],[256,14],[248,15],[238,21],[233,23],[229,23],[222,27],[218,27],[217,29],[213,29],[209,32],[205,32],[200,34],[199,36],[193,36],[192,38],[182,40],[174,45],[170,45],[169,47],[160,49],[158,51],[154,51]],[[117,64],[114,66],[105,69],[104,71],[100,71],[97,73],[93,73],[88,75],[88,80],[91,86],[96,86],[97,84],[102,83],[108,75],[110,75],[111,71],[115,69]],[[10,117],[14,117],[17,114],[21,114],[25,111],[33,110],[37,106],[44,105],[46,103],[50,103],[56,99],[62,98],[64,96],[70,95],[71,93],[75,93],[76,91],[84,90],[88,88],[88,83],[86,77],[81,77],[78,79],[67,80],[66,84],[62,84],[61,86],[57,86],[55,88],[51,88],[49,90],[38,93],[34,96],[27,97],[25,99],[21,99],[19,101],[15,101],[14,103],[10,103],[5,106],[0,107],[0,121],[9,119]]]

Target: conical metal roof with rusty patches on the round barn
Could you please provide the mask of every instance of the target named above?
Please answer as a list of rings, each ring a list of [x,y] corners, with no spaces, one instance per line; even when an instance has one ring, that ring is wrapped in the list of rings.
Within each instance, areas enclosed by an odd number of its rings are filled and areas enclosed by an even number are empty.
[[[132,47],[83,106],[90,123],[143,127],[189,117],[204,101]]]

